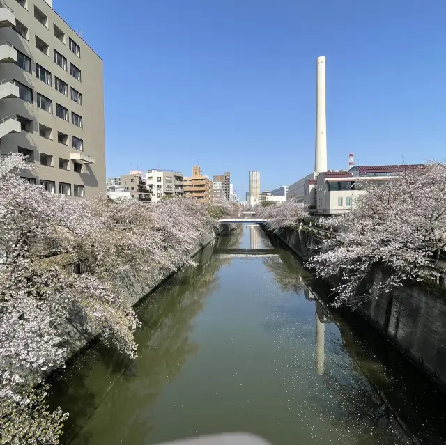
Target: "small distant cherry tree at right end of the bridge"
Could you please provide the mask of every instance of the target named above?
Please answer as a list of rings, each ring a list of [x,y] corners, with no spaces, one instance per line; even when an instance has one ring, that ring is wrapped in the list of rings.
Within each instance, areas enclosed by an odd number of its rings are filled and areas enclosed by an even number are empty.
[[[268,207],[259,206],[256,211],[258,217],[265,219],[266,226],[274,232],[286,228],[296,229],[308,215],[304,205],[295,198]]]

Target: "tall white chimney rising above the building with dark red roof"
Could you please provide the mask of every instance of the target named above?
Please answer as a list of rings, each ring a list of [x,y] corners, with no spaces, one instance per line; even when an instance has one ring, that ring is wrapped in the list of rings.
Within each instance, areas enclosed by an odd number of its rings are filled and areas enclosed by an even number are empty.
[[[327,171],[327,118],[325,114],[325,57],[316,60],[316,150],[314,171]]]

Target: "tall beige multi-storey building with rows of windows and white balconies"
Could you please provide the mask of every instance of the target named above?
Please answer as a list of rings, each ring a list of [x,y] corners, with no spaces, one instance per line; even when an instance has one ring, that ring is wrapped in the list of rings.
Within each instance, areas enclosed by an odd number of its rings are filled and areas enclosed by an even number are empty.
[[[51,0],[1,1],[0,155],[28,156],[48,192],[105,192],[101,58]]]

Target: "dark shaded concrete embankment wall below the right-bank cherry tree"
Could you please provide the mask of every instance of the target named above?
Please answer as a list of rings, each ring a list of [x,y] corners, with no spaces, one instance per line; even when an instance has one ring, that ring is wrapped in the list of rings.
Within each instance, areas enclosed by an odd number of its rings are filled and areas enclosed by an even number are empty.
[[[277,237],[301,260],[321,244],[305,231],[282,231]],[[383,279],[385,271],[380,269],[368,277],[370,282]],[[446,290],[408,283],[369,299],[357,311],[446,390]]]

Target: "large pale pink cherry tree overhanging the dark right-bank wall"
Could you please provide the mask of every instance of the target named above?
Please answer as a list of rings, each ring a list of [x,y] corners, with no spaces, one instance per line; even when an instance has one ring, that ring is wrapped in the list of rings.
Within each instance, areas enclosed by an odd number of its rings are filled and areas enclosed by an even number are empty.
[[[446,253],[446,164],[405,169],[385,185],[364,180],[353,210],[328,221],[337,237],[309,260],[321,277],[338,276],[335,304],[361,304],[406,281],[435,276]],[[383,281],[368,283],[380,266]]]

